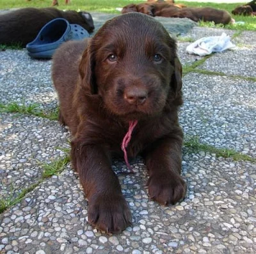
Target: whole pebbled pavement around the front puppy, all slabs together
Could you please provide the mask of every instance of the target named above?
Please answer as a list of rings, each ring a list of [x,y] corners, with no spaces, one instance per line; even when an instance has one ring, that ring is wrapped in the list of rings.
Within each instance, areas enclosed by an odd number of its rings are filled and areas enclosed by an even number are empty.
[[[92,14],[97,28],[113,17]],[[190,26],[186,38],[193,40],[235,32]],[[179,41],[184,70],[193,67],[183,78],[180,124],[186,139],[205,146],[184,146],[188,192],[169,207],[148,199],[141,158],[133,161],[132,175],[123,174],[124,161],[113,161],[132,211],[132,226],[122,234],[104,234],[88,224],[88,203],[70,163],[60,174],[43,177],[42,163],[65,158],[67,129],[44,117],[1,113],[0,201],[9,207],[0,214],[0,253],[256,253],[255,41],[256,32],[244,31],[232,39],[236,49],[205,61],[186,54],[189,42]],[[1,51],[0,103],[56,107],[50,70],[51,61],[31,59],[26,50]],[[234,149],[241,160],[219,157],[218,149]]]

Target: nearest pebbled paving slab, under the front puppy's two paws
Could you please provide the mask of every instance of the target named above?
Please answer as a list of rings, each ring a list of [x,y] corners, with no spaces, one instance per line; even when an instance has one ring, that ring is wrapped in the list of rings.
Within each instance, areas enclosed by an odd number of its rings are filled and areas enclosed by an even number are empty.
[[[87,202],[68,167],[1,215],[0,250],[255,253],[255,165],[210,154],[184,154],[187,197],[178,205],[164,207],[148,200],[145,166],[140,159],[135,162],[134,175],[118,174],[132,211],[132,227],[106,235],[88,225]]]

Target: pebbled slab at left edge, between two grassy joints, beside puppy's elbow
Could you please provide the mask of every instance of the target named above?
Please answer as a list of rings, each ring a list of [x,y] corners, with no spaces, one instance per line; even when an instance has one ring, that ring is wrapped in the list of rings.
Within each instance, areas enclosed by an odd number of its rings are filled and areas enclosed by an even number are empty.
[[[40,179],[42,163],[65,156],[68,132],[57,121],[42,117],[1,114],[0,195],[17,195]],[[13,193],[12,191],[13,190]]]

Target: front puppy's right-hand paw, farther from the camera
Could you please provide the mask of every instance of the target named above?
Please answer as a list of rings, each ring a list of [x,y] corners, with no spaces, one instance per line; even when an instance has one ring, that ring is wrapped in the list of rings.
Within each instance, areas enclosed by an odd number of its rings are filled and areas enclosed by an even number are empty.
[[[154,174],[148,179],[148,195],[160,204],[175,204],[186,195],[186,183],[178,174]]]

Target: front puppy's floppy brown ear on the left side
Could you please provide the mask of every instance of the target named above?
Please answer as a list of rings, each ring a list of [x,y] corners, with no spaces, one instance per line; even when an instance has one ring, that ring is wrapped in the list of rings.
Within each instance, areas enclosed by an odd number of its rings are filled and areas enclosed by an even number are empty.
[[[80,85],[88,94],[97,94],[97,85],[94,77],[95,60],[92,56],[91,45],[89,43],[83,52],[79,64]]]

